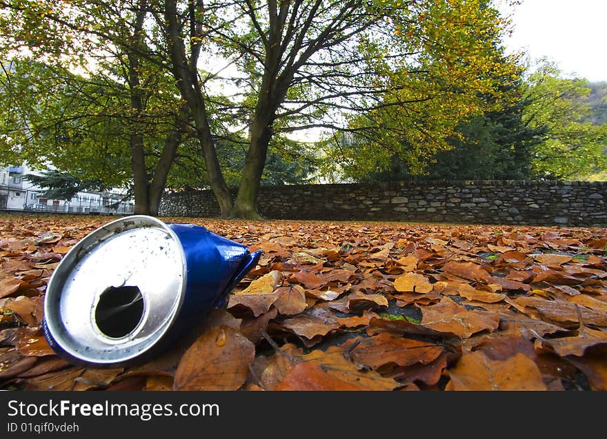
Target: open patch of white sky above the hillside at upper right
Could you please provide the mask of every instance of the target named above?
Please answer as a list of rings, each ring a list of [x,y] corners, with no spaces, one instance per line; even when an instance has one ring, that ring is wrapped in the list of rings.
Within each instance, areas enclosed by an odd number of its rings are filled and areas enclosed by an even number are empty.
[[[513,25],[508,48],[557,61],[565,74],[607,81],[607,0],[523,0]]]

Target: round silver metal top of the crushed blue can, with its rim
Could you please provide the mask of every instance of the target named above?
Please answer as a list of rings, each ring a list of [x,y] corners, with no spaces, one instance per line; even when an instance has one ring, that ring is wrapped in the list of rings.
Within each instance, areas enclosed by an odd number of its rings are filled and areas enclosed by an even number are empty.
[[[128,363],[159,345],[186,287],[186,254],[177,234],[152,216],[119,218],[79,241],[55,268],[44,300],[47,336],[59,355],[79,363]],[[116,305],[123,296],[130,302]],[[123,310],[135,303],[126,318]],[[112,313],[110,331],[101,315]]]

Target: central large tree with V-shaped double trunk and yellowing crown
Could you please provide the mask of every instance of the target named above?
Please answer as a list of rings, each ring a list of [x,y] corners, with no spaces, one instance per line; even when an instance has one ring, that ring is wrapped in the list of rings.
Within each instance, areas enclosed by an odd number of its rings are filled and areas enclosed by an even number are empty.
[[[482,72],[501,67],[493,60],[494,37],[504,23],[490,1],[166,0],[163,6],[157,18],[172,72],[197,125],[223,215],[258,216],[259,182],[277,133],[309,127],[377,133],[377,125],[349,121],[359,112],[389,109],[406,119],[400,130],[407,125],[421,139],[429,128],[441,128],[441,138],[453,126],[421,127],[416,113],[439,107],[446,101],[441,94],[450,94],[455,117],[467,114],[475,93],[496,90],[494,78]],[[248,128],[233,203],[208,123],[209,76],[201,80],[199,72],[201,54],[209,51],[237,70],[233,77],[243,90],[241,101],[226,109],[245,115],[240,121]]]

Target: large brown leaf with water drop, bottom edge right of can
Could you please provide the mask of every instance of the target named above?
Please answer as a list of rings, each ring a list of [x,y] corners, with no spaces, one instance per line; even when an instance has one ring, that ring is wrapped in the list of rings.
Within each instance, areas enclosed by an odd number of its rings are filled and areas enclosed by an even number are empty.
[[[236,329],[218,326],[202,334],[183,354],[175,390],[236,390],[248,377],[255,345]]]

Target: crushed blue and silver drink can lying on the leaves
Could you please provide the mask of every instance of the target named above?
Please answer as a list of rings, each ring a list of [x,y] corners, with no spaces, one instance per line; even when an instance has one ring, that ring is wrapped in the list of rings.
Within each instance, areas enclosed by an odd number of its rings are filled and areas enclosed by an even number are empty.
[[[152,358],[228,294],[261,256],[192,224],[127,216],[94,230],[54,270],[43,331],[72,363],[123,367]]]

